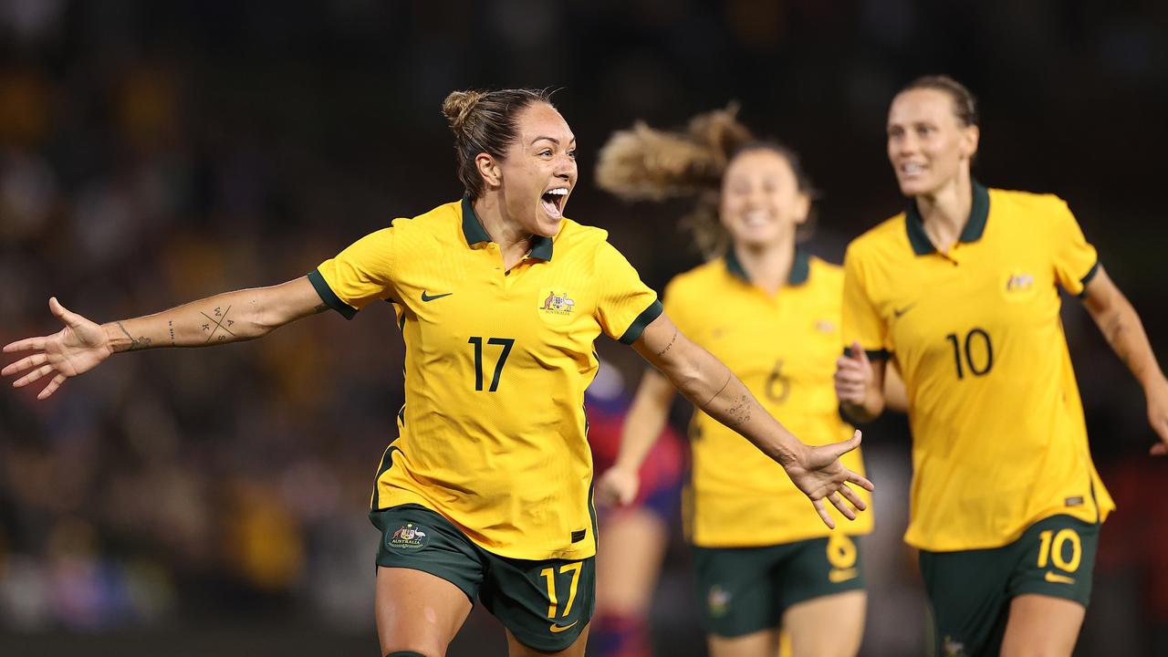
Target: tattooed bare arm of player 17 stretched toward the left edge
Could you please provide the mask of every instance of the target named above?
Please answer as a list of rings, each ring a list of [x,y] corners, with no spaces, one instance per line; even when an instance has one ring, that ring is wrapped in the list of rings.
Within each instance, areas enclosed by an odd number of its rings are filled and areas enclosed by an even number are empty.
[[[35,353],[8,365],[0,374],[23,374],[13,382],[16,388],[51,374],[53,379],[36,395],[46,399],[65,379],[89,372],[117,352],[251,340],[327,307],[307,276],[270,288],[224,292],[155,314],[103,325],[70,312],[53,297],[49,310],[64,328],[6,345],[5,353]]]

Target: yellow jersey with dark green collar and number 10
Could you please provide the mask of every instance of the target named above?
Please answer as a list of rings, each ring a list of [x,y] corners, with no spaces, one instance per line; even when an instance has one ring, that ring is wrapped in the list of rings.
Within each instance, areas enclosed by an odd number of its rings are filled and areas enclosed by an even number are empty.
[[[915,205],[848,247],[844,344],[895,358],[908,387],[909,544],[1000,547],[1049,516],[1114,509],[1058,314],[1057,286],[1080,295],[1097,268],[1061,199],[978,184],[947,254]]]

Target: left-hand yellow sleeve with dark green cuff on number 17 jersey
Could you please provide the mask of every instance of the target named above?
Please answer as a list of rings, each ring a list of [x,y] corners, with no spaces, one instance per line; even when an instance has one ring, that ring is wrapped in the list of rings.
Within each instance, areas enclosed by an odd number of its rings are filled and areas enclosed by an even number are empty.
[[[383,228],[349,244],[308,274],[321,300],[346,319],[375,299],[390,296],[394,271],[394,229]]]

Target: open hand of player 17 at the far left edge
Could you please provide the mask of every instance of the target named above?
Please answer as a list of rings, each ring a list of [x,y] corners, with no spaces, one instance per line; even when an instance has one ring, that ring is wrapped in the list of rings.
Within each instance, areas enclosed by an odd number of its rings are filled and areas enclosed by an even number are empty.
[[[70,312],[57,302],[56,297],[49,299],[49,311],[65,327],[51,336],[26,338],[5,345],[4,353],[27,351],[35,353],[0,369],[0,374],[5,376],[15,376],[27,372],[13,381],[14,388],[22,388],[53,374],[53,379],[36,395],[36,399],[47,399],[61,387],[65,379],[89,372],[113,353],[105,331],[100,326]]]

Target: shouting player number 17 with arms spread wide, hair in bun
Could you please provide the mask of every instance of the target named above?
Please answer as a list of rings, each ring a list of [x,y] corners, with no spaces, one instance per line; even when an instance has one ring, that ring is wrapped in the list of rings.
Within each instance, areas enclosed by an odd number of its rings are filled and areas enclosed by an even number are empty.
[[[839,462],[860,443],[812,448],[662,314],[603,230],[563,216],[576,139],[548,95],[457,91],[444,105],[466,196],[362,237],[307,276],[97,325],[55,298],[65,327],[12,343],[4,368],[51,395],[117,352],[259,338],[327,310],[396,306],[405,407],[377,469],[383,532],[376,617],[383,655],[438,656],[475,595],[512,655],[583,655],[596,530],[584,389],[603,332],[631,344],[683,394],[784,464],[825,521],[865,506]]]

